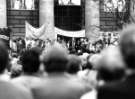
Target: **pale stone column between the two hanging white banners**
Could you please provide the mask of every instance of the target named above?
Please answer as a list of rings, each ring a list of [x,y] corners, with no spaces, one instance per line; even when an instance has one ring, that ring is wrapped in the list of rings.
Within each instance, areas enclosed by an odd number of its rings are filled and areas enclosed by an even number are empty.
[[[44,39],[55,39],[54,32],[54,0],[40,0],[39,24],[46,25]]]

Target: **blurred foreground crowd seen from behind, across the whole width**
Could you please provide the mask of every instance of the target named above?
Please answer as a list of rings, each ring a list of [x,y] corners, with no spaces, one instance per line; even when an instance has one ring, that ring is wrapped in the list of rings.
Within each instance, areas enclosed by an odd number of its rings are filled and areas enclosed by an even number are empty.
[[[0,41],[0,98],[135,99],[134,27],[120,32],[117,46],[82,55],[53,42],[45,49],[22,47],[11,58]]]

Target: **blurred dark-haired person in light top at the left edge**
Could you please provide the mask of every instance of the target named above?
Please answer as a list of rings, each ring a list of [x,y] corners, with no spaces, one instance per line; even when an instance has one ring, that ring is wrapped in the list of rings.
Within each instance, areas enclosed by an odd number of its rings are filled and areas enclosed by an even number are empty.
[[[0,41],[0,98],[1,99],[32,99],[30,90],[16,86],[3,79],[8,65],[8,52],[2,41]]]

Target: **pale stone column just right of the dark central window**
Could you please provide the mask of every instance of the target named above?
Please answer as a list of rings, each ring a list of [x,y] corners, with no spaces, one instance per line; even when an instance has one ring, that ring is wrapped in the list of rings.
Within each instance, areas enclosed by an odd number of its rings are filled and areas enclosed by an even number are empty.
[[[100,9],[99,0],[85,0],[85,30],[86,37],[92,42],[99,37]]]

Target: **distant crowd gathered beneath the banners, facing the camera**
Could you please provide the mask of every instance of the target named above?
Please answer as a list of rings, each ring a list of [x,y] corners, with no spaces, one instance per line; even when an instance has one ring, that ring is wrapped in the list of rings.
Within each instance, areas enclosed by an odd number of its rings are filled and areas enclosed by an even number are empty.
[[[11,53],[20,55],[25,49],[31,49],[33,47],[39,47],[42,50],[46,50],[55,42],[60,43],[63,47],[68,49],[71,54],[82,55],[83,53],[99,53],[109,45],[118,45],[119,33],[100,33],[99,38],[94,42],[91,42],[87,38],[70,38],[64,36],[58,36],[57,40],[14,38],[10,39],[9,46]]]

